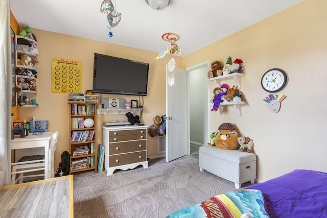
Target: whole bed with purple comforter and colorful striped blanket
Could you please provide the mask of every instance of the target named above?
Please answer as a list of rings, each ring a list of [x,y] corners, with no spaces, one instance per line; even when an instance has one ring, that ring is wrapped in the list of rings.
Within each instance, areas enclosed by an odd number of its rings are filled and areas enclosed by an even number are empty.
[[[327,173],[295,171],[182,208],[169,218],[327,217]]]

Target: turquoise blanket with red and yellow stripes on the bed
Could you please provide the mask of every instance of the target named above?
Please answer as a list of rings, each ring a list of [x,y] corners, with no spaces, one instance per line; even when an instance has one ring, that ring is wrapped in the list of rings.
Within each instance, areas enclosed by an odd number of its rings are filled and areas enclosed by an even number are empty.
[[[167,218],[240,218],[242,214],[248,215],[245,217],[270,217],[260,190],[229,191],[200,204],[182,208]]]

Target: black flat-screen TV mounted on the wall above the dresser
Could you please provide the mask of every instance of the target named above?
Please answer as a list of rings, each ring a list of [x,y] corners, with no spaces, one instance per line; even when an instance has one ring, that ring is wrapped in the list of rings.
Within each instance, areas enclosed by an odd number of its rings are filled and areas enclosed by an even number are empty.
[[[149,64],[94,54],[93,92],[147,95]]]

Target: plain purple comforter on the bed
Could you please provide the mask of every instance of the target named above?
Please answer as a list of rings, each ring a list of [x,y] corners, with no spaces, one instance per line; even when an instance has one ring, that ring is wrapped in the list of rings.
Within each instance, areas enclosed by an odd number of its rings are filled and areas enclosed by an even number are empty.
[[[247,188],[263,192],[272,218],[327,217],[327,173],[296,169]]]

